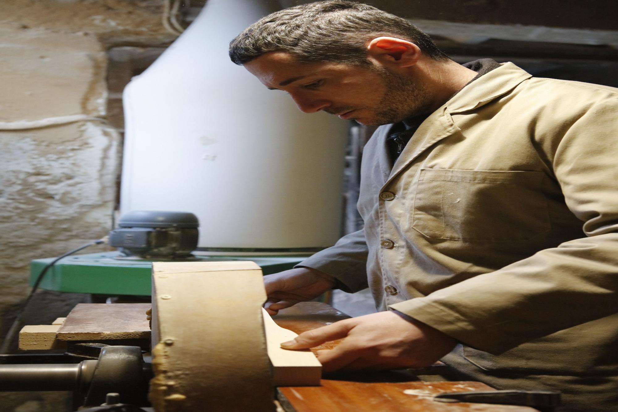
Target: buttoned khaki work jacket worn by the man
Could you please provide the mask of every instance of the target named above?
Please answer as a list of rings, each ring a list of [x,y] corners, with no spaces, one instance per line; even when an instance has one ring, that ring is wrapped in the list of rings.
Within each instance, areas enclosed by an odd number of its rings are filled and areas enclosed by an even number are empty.
[[[394,166],[390,127],[363,153],[364,230],[300,265],[461,341],[444,361],[475,379],[618,410],[618,89],[505,63]]]

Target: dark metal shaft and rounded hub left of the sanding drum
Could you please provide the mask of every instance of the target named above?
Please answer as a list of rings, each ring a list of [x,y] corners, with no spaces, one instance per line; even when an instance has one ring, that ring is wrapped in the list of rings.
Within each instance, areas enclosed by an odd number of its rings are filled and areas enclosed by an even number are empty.
[[[146,394],[152,378],[138,346],[104,346],[98,360],[65,355],[4,355],[0,364],[0,390],[74,391],[79,405],[99,406],[108,393],[122,403],[148,405]],[[33,364],[29,362],[39,361]],[[66,363],[60,363],[66,362]],[[73,362],[73,363],[70,363]]]

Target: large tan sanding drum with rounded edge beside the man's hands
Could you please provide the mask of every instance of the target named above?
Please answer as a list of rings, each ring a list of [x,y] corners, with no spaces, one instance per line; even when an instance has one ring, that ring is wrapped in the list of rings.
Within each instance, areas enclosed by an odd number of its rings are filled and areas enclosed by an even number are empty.
[[[262,272],[253,262],[153,263],[156,412],[274,412]]]

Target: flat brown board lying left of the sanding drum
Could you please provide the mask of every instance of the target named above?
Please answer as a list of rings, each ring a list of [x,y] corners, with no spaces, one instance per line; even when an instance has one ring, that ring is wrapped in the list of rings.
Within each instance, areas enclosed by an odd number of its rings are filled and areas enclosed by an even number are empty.
[[[150,339],[150,303],[80,303],[57,332],[59,340]]]

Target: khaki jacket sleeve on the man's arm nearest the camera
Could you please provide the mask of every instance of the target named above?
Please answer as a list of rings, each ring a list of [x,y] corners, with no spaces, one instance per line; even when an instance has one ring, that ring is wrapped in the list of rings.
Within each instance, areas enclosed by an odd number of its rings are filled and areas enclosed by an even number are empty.
[[[547,155],[586,237],[392,309],[492,354],[618,312],[616,93],[555,129]]]

